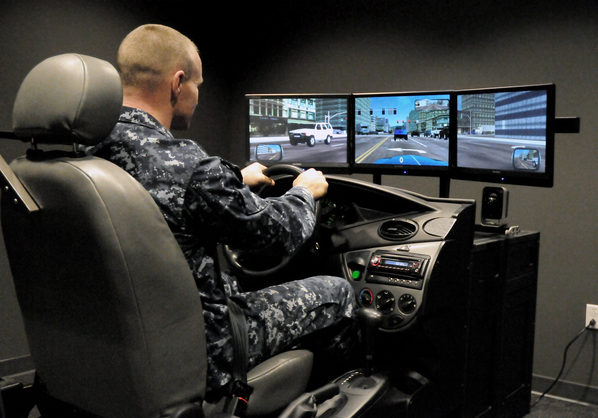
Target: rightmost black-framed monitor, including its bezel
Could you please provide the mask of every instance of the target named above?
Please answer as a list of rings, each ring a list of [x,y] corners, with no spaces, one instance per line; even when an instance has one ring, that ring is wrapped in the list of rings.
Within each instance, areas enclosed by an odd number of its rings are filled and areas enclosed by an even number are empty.
[[[552,187],[554,84],[454,91],[451,178]]]

